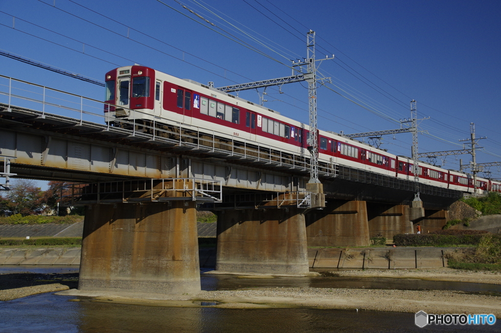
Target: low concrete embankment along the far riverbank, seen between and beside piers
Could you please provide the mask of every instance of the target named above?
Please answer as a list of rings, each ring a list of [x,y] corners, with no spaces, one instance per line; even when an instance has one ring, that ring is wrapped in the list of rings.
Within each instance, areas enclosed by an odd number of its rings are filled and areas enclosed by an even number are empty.
[[[438,268],[454,248],[318,248],[308,251],[310,268]],[[79,265],[80,247],[0,248],[0,265]],[[214,267],[215,248],[200,248],[200,267]]]

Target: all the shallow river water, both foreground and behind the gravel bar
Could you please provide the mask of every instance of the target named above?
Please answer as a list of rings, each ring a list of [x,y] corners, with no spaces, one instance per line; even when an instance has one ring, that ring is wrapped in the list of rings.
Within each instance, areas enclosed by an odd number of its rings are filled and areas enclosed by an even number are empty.
[[[17,269],[17,270],[16,270]],[[0,273],[15,271],[57,272],[66,267],[0,266]],[[202,289],[228,290],[255,286],[326,288],[449,289],[499,293],[500,286],[415,279],[384,278],[273,278],[248,279],[202,274]],[[80,299],[71,301],[70,299]],[[492,326],[414,324],[413,313],[319,310],[310,308],[218,309],[213,307],[161,307],[97,302],[90,297],[53,293],[0,302],[0,332],[499,332]]]

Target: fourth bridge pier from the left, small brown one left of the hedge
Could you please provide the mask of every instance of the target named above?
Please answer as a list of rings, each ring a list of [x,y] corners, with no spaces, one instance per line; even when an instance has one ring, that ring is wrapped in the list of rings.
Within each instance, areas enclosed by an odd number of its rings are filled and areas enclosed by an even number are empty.
[[[367,219],[369,222],[369,237],[378,234],[386,239],[393,239],[399,233],[413,233],[412,222],[409,220],[409,206],[367,203]]]

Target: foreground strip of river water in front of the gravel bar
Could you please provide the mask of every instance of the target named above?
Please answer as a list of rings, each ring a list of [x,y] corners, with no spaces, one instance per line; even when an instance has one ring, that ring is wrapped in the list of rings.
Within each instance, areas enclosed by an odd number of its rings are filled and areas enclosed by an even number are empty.
[[[414,325],[413,313],[300,308],[156,307],[53,294],[0,302],[2,332],[496,332],[493,326]]]

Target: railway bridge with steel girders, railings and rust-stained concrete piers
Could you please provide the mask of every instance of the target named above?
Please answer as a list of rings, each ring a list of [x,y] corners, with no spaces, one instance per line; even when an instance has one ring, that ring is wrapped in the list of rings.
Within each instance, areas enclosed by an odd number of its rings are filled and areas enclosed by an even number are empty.
[[[10,172],[86,184],[70,198],[87,207],[79,289],[200,290],[197,207],[217,214],[216,270],[305,275],[308,246],[368,245],[418,222],[439,229],[461,196],[421,184],[414,201],[412,180],[335,163],[320,165],[323,193],[312,193],[304,156],[207,129],[202,140],[183,124],[112,127],[100,101],[17,80],[42,92],[16,94],[2,78],[0,155]]]

